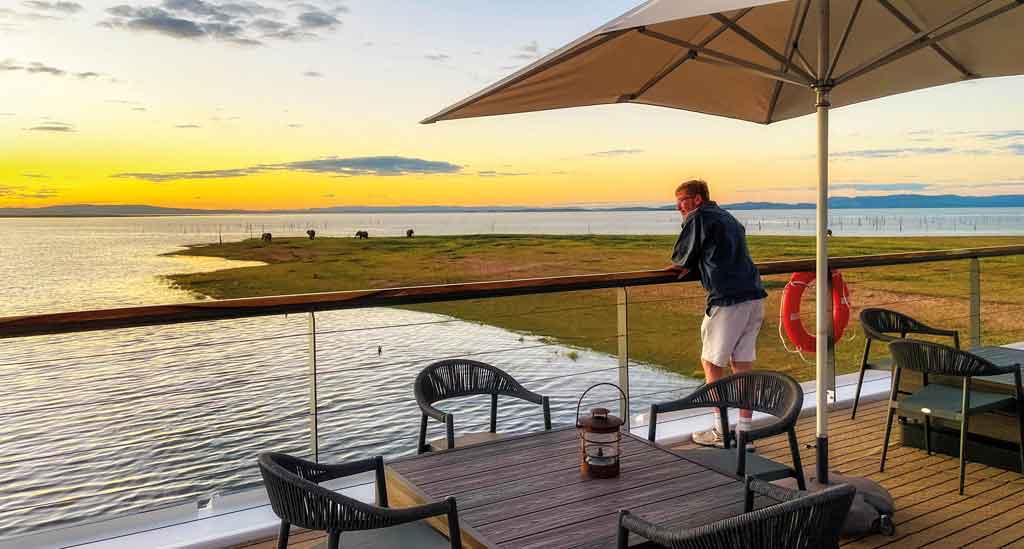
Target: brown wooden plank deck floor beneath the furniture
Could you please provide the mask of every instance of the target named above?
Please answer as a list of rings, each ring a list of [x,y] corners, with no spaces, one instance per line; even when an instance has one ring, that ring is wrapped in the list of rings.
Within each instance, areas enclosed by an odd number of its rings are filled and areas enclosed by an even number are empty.
[[[969,464],[965,495],[959,496],[956,459],[903,448],[896,430],[886,472],[880,473],[885,411],[885,402],[880,400],[861,403],[856,421],[850,421],[850,410],[845,408],[834,410],[829,415],[830,469],[878,480],[893,495],[897,509],[895,537],[846,540],[844,548],[1024,549],[1024,476]],[[797,435],[802,445],[814,441],[813,416],[800,420]],[[759,442],[758,452],[780,462],[790,460],[784,437]],[[813,450],[802,447],[801,457],[806,467],[813,468]],[[289,547],[309,548],[324,541],[322,533],[301,533],[292,536]],[[239,547],[272,549],[275,543],[267,539]]]

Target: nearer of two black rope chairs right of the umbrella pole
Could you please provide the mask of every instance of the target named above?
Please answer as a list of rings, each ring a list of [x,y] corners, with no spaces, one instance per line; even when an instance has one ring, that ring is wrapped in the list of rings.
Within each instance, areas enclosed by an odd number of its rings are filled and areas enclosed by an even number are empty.
[[[932,453],[932,418],[959,423],[959,494],[964,495],[965,465],[967,463],[967,434],[970,416],[993,410],[1017,412],[1017,430],[1020,442],[1020,465],[1024,471],[1024,390],[1021,388],[1021,365],[996,366],[981,356],[946,345],[912,339],[889,343],[896,361],[893,370],[893,388],[889,396],[889,417],[886,418],[886,435],[882,445],[882,462],[879,471],[886,468],[889,435],[892,433],[893,416],[896,414],[925,418],[925,450]],[[903,369],[963,378],[962,386],[951,387],[928,383],[910,394],[898,398],[900,373]],[[971,379],[979,376],[1013,374],[1015,394],[986,392],[971,389]]]

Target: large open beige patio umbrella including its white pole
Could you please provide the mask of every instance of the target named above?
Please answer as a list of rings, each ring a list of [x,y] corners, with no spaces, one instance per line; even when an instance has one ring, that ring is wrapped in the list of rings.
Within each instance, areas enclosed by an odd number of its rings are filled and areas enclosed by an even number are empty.
[[[817,113],[827,281],[828,110],[1024,73],[1024,0],[650,0],[427,118],[633,102],[760,124]],[[836,32],[834,32],[836,31]],[[827,480],[828,285],[816,293],[817,477]]]

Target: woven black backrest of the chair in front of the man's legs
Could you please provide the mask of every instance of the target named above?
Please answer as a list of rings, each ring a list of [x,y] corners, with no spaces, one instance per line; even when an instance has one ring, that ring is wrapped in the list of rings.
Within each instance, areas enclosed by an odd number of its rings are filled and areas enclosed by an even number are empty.
[[[804,391],[778,372],[742,372],[698,387],[687,398],[694,407],[738,408],[764,412],[782,423],[796,421]]]

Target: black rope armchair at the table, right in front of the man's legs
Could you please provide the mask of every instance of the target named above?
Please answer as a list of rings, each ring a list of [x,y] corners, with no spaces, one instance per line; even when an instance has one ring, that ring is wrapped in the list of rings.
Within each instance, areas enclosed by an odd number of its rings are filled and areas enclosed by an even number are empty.
[[[647,439],[654,441],[658,414],[695,408],[717,408],[725,448],[685,451],[682,454],[686,458],[717,471],[735,474],[739,478],[751,475],[762,480],[777,480],[792,476],[797,479],[800,490],[804,490],[804,469],[800,463],[796,430],[803,406],[804,389],[792,377],[778,372],[742,372],[701,385],[678,400],[651,405]],[[731,450],[730,441],[733,436],[729,431],[730,408],[763,412],[774,416],[774,420],[749,431],[737,430],[736,450]],[[746,442],[782,433],[786,433],[790,439],[793,467],[757,454],[749,454],[744,450]]]

